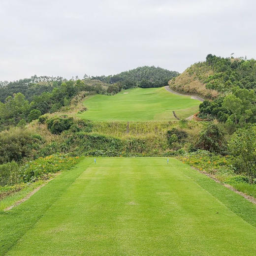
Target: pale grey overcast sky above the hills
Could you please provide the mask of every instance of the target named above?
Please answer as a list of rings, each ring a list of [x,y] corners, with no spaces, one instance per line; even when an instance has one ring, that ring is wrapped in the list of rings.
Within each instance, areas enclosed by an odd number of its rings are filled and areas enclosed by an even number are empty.
[[[0,80],[256,59],[254,0],[0,0]]]

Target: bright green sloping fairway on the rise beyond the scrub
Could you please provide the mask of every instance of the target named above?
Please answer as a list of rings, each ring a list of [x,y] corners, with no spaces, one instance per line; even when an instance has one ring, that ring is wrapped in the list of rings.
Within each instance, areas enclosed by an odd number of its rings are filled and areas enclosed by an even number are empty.
[[[95,95],[87,98],[87,111],[78,116],[93,121],[170,121],[172,111],[182,119],[198,111],[199,100],[179,96],[162,88],[135,88],[113,96]]]

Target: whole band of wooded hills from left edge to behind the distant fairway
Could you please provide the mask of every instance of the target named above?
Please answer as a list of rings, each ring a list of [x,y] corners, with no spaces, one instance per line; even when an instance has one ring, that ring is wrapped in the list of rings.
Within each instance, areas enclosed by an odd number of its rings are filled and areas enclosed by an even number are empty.
[[[0,82],[0,130],[25,126],[40,115],[68,107],[74,98],[93,94],[114,95],[134,87],[161,87],[178,72],[160,67],[138,67],[115,76],[32,76],[14,82]]]

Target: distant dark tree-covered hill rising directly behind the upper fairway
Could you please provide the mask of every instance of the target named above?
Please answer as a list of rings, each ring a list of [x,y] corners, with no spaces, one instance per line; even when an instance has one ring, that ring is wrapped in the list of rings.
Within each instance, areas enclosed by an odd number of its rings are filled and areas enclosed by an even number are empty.
[[[92,79],[97,79],[109,84],[120,81],[134,84],[133,86],[127,86],[127,88],[134,86],[150,88],[165,86],[171,78],[176,77],[177,75],[179,75],[179,72],[177,71],[169,71],[155,66],[142,66],[116,75],[95,76],[92,77]]]

